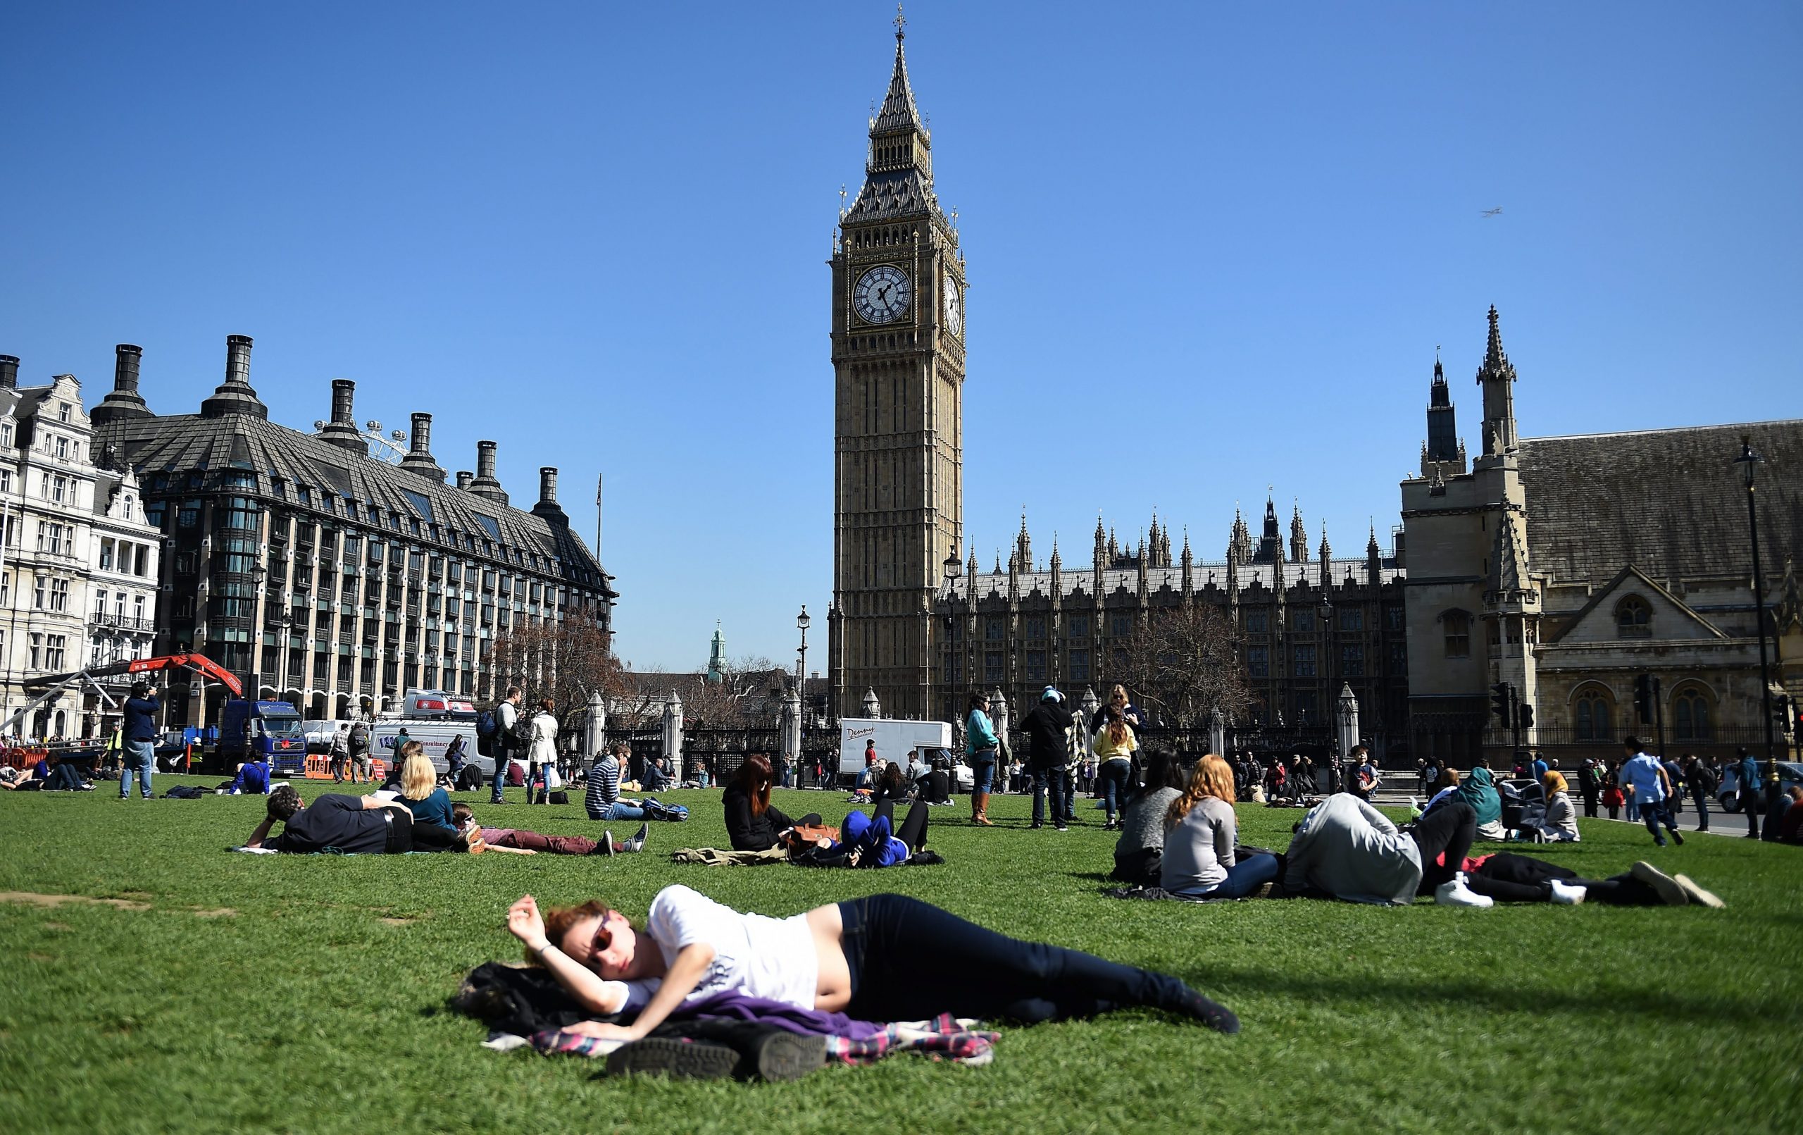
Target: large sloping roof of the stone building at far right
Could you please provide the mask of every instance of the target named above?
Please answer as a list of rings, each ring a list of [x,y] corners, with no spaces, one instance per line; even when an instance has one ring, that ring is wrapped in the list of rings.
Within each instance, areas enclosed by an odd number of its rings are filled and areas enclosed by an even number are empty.
[[[1751,579],[1740,435],[1760,466],[1765,577],[1803,559],[1803,419],[1522,438],[1529,567],[1603,585],[1634,565],[1661,583]]]

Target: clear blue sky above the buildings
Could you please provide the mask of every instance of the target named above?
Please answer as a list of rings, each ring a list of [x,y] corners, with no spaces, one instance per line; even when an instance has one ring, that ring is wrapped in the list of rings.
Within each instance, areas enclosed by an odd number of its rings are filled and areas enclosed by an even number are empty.
[[[0,13],[0,352],[191,411],[227,334],[305,428],[435,413],[593,532],[640,666],[793,660],[831,550],[829,238],[885,4]],[[970,265],[965,525],[1217,559],[1275,485],[1396,521],[1442,346],[1527,435],[1799,413],[1803,7],[909,5]],[[1504,213],[1482,218],[1482,209]],[[1731,455],[1724,455],[1727,460]],[[824,624],[817,624],[824,626]],[[824,666],[820,635],[810,669]]]

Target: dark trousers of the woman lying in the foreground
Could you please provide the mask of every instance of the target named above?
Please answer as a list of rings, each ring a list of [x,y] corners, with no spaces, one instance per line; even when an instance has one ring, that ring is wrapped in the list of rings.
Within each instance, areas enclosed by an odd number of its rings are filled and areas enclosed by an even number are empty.
[[[851,899],[838,915],[851,967],[846,1014],[864,1021],[950,1012],[1033,1023],[1129,1005],[1183,1012],[1199,996],[1170,974],[1020,942],[907,895]]]

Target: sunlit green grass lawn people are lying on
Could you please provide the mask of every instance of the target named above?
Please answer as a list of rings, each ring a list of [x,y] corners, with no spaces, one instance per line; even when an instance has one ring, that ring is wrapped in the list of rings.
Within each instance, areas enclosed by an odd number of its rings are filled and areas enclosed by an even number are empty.
[[[159,778],[159,790],[204,778]],[[326,785],[330,787],[330,785]],[[1543,848],[1583,875],[1646,857],[1727,909],[1120,902],[1112,834],[938,808],[938,868],[673,866],[725,844],[718,792],[653,825],[644,855],[231,855],[260,798],[121,803],[0,794],[0,1131],[1796,1131],[1803,1101],[1803,852],[1731,837],[1655,850],[1583,821]],[[317,794],[308,787],[307,794]],[[514,792],[517,799],[517,790]],[[485,810],[599,834],[581,807]],[[847,805],[779,792],[790,814]],[[1293,810],[1242,807],[1282,848]],[[1689,816],[1686,816],[1686,821]],[[1689,825],[1686,825],[1689,826]],[[1740,832],[1729,821],[1722,825]],[[617,832],[618,834],[618,832]],[[1004,933],[1165,969],[1239,1012],[1222,1038],[1149,1010],[1002,1029],[986,1068],[894,1057],[799,1083],[600,1077],[599,1061],[494,1054],[444,1010],[472,965],[516,958],[508,902],[600,897],[642,915],[687,882],[795,913],[894,890]],[[117,899],[43,906],[18,893]]]

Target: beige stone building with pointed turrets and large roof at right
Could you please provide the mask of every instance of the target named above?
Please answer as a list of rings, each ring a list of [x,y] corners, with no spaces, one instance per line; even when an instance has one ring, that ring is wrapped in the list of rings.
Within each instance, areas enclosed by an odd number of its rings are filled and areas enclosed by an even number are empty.
[[[1572,765],[1630,733],[1762,752],[1758,608],[1742,438],[1758,507],[1774,686],[1803,695],[1803,420],[1520,438],[1496,310],[1466,467],[1435,364],[1421,476],[1405,480],[1410,722],[1417,756],[1507,758],[1496,684],[1531,706],[1524,743]],[[1657,680],[1653,724],[1635,684]],[[1783,740],[1783,738],[1780,738]]]

